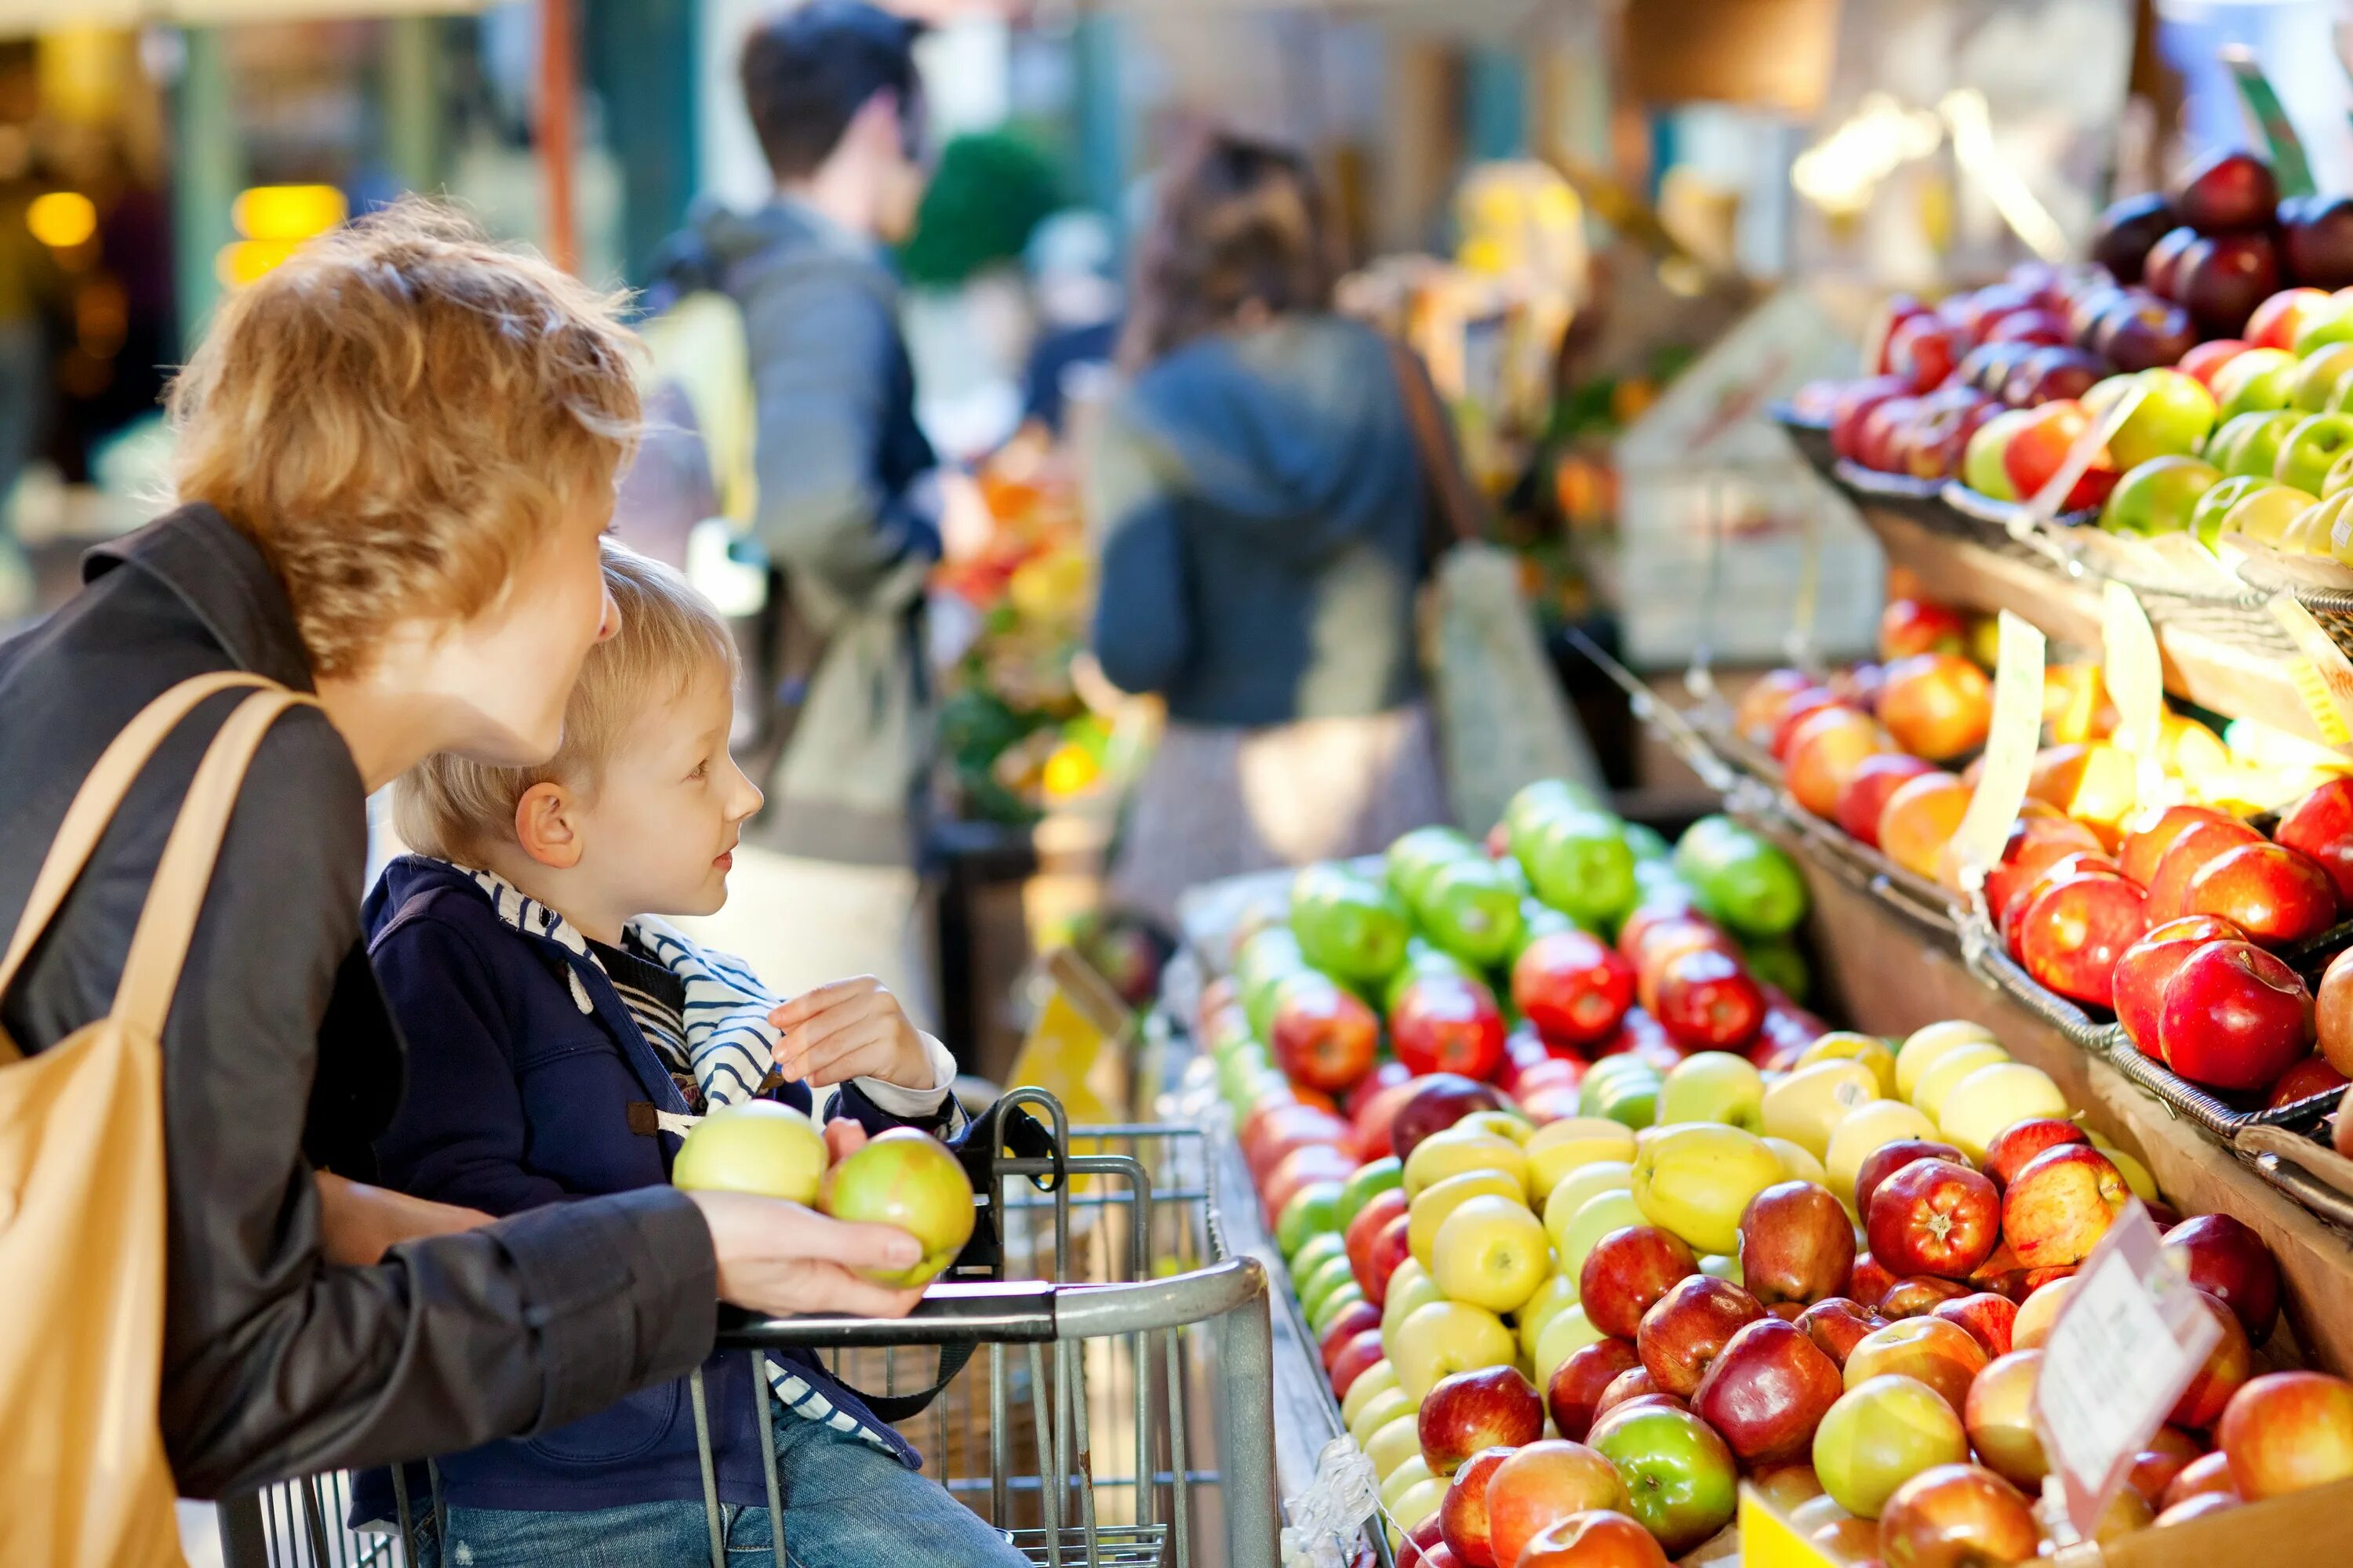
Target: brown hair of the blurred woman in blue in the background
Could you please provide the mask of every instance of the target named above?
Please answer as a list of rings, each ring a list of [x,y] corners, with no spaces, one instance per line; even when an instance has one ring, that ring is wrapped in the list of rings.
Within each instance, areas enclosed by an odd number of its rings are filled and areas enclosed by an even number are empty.
[[[1325,310],[1337,270],[1308,158],[1207,132],[1162,176],[1120,360],[1141,369],[1249,306]]]

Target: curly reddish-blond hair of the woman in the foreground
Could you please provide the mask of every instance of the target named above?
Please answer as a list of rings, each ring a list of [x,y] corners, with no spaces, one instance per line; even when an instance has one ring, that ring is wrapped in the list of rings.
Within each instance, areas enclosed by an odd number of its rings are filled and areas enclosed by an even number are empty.
[[[287,588],[320,675],[471,618],[638,437],[621,296],[405,197],[231,294],[172,383],[179,501]]]

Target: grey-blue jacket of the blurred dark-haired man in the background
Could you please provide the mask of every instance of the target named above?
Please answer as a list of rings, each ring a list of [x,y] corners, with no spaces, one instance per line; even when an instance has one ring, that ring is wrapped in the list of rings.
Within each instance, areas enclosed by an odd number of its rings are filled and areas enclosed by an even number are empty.
[[[800,202],[711,214],[668,247],[661,294],[744,308],[758,411],[753,531],[824,642],[793,743],[746,837],[819,860],[911,865],[932,743],[922,595],[936,468],[915,425],[899,280]]]

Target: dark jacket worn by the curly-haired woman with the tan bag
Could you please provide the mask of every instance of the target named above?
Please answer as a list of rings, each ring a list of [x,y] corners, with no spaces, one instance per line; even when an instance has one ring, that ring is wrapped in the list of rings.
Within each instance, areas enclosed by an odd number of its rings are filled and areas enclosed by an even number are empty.
[[[311,689],[261,552],[191,505],[94,550],[87,588],[0,644],[0,933],[89,764],[207,670]],[[158,752],[0,999],[42,1051],[106,1013],[195,759],[238,693]],[[181,1493],[544,1432],[711,1352],[711,1232],[671,1187],[320,1258],[315,1166],[369,1178],[402,1044],[360,947],[367,795],[318,710],[278,722],[238,797],[162,1039],[162,1436]]]

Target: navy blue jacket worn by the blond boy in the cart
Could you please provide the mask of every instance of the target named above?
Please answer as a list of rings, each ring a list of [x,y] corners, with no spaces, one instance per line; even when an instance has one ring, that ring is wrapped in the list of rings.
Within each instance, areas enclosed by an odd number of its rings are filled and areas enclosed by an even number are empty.
[[[376,1140],[384,1182],[492,1215],[588,1194],[666,1185],[678,1138],[631,1128],[631,1105],[685,1112],[685,1098],[605,971],[562,943],[499,919],[475,882],[440,860],[393,860],[362,910],[367,952],[409,1039],[409,1081]],[[584,1013],[572,997],[591,1001]],[[807,1084],[774,1098],[809,1110]],[[835,1117],[868,1131],[922,1126],[842,1084]],[[640,1124],[645,1117],[640,1114]],[[715,1312],[715,1307],[713,1307]],[[795,1361],[838,1410],[880,1434],[908,1467],[915,1450],[807,1354]],[[751,1366],[704,1361],[722,1502],[767,1505],[765,1446]],[[800,1420],[779,1413],[779,1420]],[[438,1455],[447,1502],[482,1509],[586,1512],[635,1502],[699,1502],[701,1467],[687,1380],[664,1382],[553,1432]],[[412,1469],[412,1500],[424,1469]],[[388,1519],[391,1472],[360,1479],[355,1519]]]

